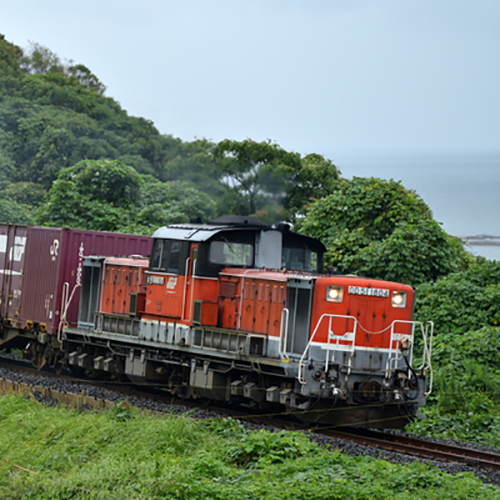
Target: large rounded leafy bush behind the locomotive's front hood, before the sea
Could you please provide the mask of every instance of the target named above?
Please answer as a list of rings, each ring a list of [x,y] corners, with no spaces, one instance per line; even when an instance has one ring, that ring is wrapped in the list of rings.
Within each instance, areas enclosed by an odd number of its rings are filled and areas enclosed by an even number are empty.
[[[338,272],[417,284],[468,264],[462,244],[400,182],[354,177],[334,185],[297,227],[323,241]]]

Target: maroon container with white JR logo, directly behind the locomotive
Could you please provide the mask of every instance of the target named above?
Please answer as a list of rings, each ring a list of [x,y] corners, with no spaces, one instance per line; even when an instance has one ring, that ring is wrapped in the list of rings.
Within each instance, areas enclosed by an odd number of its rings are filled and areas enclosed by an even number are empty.
[[[69,326],[76,326],[83,257],[146,257],[152,244],[149,236],[28,227],[20,326],[38,323],[45,325],[49,333],[57,333],[63,319]]]

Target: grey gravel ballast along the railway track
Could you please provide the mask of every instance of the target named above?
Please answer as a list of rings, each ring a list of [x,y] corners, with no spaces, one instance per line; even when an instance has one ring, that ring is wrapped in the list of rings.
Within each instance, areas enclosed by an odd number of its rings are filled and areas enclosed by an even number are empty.
[[[127,403],[133,407],[149,411],[157,411],[169,414],[183,414],[189,412],[189,415],[192,418],[200,420],[208,418],[224,417],[224,415],[214,411],[207,411],[198,408],[194,409],[188,406],[165,403],[148,397],[127,396],[113,390],[103,389],[102,387],[96,387],[89,384],[80,384],[60,379],[54,379],[43,376],[42,374],[24,373],[21,371],[14,371],[0,367],[0,377],[7,380],[11,380],[13,382],[48,387],[54,390],[65,391],[67,393],[81,394],[83,391],[85,391],[85,395],[87,396],[95,397],[98,399],[105,399],[108,401],[112,401],[114,403],[118,403],[120,401],[127,401]],[[33,397],[35,397],[37,401],[46,404],[48,406],[56,406],[58,404],[58,402],[55,399],[44,396],[39,392],[35,392],[33,394]],[[80,411],[88,411],[88,410],[92,410],[92,408],[88,406],[87,407],[82,406],[80,408]],[[265,428],[270,431],[276,431],[276,428],[268,425],[257,425],[254,423],[245,422],[245,420],[242,420],[241,423],[249,429]],[[415,437],[421,438],[422,436],[415,436]],[[479,479],[481,479],[481,481],[485,483],[500,485],[500,473],[492,470],[477,469],[457,463],[422,460],[417,457],[384,451],[370,446],[359,445],[353,443],[352,441],[347,441],[344,439],[323,436],[321,434],[311,433],[309,434],[309,438],[312,441],[317,442],[324,447],[335,450],[341,450],[343,453],[346,453],[349,456],[369,456],[378,460],[387,460],[392,463],[402,463],[402,462],[409,463],[415,461],[431,463],[438,469],[450,474],[462,474],[462,473],[472,472]],[[429,438],[429,440],[436,442],[450,443],[450,441],[445,441],[445,440],[437,440],[431,438]],[[459,444],[460,446],[465,446],[470,449],[492,451],[491,449],[485,448],[483,446],[474,445],[471,443],[457,443],[457,444]]]

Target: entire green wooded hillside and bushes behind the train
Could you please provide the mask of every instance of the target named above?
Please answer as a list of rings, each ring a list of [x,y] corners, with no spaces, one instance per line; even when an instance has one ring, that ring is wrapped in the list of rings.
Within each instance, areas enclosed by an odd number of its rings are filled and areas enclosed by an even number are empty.
[[[500,446],[500,263],[470,256],[417,193],[271,141],[160,134],[85,66],[0,35],[0,221],[151,234],[228,213],[295,224],[338,272],[417,286],[435,380],[412,429]]]

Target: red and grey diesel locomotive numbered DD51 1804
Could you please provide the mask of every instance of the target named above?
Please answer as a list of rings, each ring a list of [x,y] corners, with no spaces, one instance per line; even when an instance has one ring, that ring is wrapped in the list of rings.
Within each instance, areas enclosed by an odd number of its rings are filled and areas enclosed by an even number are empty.
[[[325,272],[319,241],[249,217],[153,238],[149,259],[86,254],[78,322],[52,332],[55,364],[312,422],[400,427],[418,415],[432,323],[413,321],[411,286]]]

